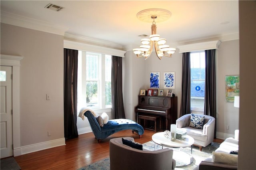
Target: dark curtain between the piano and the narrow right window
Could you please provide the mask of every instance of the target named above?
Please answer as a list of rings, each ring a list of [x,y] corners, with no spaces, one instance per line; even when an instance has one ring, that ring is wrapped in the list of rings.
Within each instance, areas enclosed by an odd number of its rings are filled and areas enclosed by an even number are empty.
[[[182,84],[180,117],[190,111],[190,52],[182,53]]]

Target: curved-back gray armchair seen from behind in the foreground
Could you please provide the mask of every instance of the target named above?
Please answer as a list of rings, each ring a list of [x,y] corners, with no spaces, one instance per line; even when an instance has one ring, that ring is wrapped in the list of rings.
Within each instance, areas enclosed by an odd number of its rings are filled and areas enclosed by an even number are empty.
[[[138,150],[122,144],[122,138],[110,139],[109,154],[110,170],[174,170],[176,166],[172,149]]]

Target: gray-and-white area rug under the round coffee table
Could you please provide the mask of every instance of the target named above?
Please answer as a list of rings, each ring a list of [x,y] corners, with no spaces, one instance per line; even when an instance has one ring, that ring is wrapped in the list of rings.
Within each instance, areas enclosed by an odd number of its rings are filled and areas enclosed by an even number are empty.
[[[187,166],[181,166],[181,167],[176,167],[175,170],[193,170],[200,164],[202,160],[205,158],[208,158],[209,156],[212,155],[212,152],[216,150],[220,146],[219,143],[212,142],[212,144],[202,148],[202,152],[199,150],[197,146],[193,146],[192,149],[192,163],[187,165]],[[148,150],[154,150],[155,149],[155,144],[153,141],[149,141],[143,144],[143,148],[146,148]],[[162,149],[162,146],[156,144],[156,150]],[[190,154],[191,148],[181,148],[180,150],[177,148],[174,148],[174,154],[179,153],[180,151],[186,152]],[[179,157],[179,156],[178,156]],[[182,156],[182,159],[188,159]],[[178,163],[178,161],[177,161]],[[82,168],[79,168],[78,170],[109,170],[110,169],[110,160],[109,158],[105,158],[103,160],[99,160],[97,162],[94,162],[88,166],[84,166]]]

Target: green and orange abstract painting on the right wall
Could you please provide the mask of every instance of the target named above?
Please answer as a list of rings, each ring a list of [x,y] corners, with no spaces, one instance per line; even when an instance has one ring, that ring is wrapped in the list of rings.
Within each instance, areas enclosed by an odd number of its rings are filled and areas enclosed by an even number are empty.
[[[226,75],[225,77],[225,86],[226,93],[225,98],[226,102],[234,102],[235,96],[239,96],[240,91],[240,77],[239,75]]]

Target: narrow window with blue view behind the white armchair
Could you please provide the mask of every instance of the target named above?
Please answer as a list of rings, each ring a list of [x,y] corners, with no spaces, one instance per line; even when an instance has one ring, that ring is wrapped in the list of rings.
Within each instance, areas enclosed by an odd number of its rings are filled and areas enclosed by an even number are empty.
[[[192,113],[204,112],[205,93],[205,53],[204,51],[190,53],[191,95],[190,107]]]

